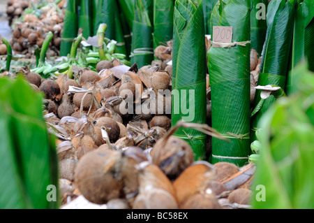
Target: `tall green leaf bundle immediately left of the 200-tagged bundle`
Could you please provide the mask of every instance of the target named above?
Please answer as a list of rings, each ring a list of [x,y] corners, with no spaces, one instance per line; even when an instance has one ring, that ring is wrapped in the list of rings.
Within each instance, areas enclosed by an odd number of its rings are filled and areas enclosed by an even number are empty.
[[[202,3],[177,0],[173,29],[172,93],[178,95],[172,97],[172,126],[182,119],[206,123],[206,49]],[[184,108],[189,109],[188,114]],[[205,158],[206,136],[200,131],[179,129],[174,136],[190,143],[195,160]]]

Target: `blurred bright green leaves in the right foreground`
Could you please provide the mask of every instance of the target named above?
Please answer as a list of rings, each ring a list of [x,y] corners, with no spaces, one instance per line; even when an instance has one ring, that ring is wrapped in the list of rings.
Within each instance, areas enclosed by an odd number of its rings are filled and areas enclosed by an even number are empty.
[[[253,208],[314,208],[314,73],[300,64],[294,75],[292,94],[278,99],[259,122]]]

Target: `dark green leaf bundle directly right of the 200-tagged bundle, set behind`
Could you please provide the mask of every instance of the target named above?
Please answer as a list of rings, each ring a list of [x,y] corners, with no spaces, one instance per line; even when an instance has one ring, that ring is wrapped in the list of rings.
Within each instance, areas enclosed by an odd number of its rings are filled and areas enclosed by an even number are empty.
[[[263,45],[266,38],[268,0],[252,0],[251,10],[251,48],[262,54]]]

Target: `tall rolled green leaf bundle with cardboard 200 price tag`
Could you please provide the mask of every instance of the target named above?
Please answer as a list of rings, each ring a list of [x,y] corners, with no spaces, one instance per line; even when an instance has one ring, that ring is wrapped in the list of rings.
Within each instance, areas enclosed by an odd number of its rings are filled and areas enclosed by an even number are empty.
[[[216,3],[212,26],[233,27],[232,42],[250,40],[250,1]],[[211,162],[243,166],[250,154],[250,44],[207,53],[211,85],[211,126],[230,141],[212,138]],[[237,136],[234,136],[237,135]]]

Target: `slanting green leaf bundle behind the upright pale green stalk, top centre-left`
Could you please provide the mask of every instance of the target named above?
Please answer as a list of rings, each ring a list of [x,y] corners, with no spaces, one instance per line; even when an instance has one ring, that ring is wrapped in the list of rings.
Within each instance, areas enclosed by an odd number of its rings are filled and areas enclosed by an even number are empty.
[[[106,37],[117,41],[117,52],[126,54],[126,45],[117,1],[100,0],[98,1],[97,10],[95,27],[99,27],[102,23],[107,24]],[[94,34],[97,34],[97,30],[94,30]]]

